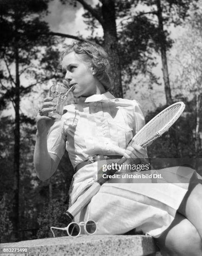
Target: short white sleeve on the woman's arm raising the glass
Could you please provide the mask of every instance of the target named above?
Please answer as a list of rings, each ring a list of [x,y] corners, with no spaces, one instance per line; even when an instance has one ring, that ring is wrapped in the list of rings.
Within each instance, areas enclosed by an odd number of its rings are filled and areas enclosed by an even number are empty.
[[[66,136],[63,133],[63,121],[57,120],[51,126],[47,135],[47,150],[56,154],[60,159],[65,153]]]

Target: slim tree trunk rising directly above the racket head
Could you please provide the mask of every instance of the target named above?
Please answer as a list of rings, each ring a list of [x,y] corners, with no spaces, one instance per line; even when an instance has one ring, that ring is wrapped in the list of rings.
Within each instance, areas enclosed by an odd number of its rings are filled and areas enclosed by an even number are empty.
[[[166,38],[163,30],[161,0],[157,0],[157,17],[159,22],[159,33],[161,36],[160,50],[161,50],[161,59],[162,59],[163,80],[164,80],[164,87],[165,87],[165,97],[166,97],[167,105],[171,105],[173,103],[173,100],[171,96],[170,81],[169,81],[168,67],[167,67]]]

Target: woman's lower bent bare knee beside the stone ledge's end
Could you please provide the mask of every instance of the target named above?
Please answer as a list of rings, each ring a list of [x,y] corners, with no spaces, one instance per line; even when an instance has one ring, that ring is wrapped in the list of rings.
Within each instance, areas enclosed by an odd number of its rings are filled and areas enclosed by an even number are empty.
[[[155,238],[163,256],[201,256],[202,243],[192,223],[180,213],[159,238]]]

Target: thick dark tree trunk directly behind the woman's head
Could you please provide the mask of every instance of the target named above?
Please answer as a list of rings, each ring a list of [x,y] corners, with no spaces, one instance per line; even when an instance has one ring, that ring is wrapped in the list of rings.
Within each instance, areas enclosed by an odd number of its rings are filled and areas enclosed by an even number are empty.
[[[118,51],[115,3],[113,0],[102,0],[102,28],[104,31],[105,50],[109,55],[111,74],[114,83],[110,91],[115,97],[123,97],[121,84],[121,66]]]

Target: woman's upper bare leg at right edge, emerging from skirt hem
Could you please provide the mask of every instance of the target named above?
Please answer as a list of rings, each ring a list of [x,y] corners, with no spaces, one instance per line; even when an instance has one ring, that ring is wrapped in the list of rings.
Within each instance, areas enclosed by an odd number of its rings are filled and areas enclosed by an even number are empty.
[[[202,240],[202,184],[190,183],[189,190],[177,211],[190,220]]]

